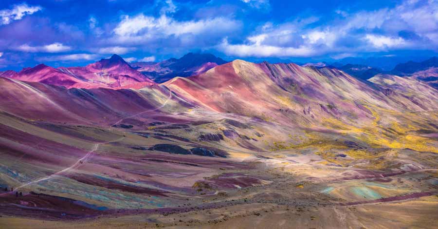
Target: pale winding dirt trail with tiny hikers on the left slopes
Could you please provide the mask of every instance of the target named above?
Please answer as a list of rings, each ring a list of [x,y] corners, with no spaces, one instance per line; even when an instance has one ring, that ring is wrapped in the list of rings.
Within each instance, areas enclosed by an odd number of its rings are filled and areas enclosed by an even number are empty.
[[[145,113],[148,113],[148,112],[153,112],[153,111],[159,110],[159,109],[163,108],[171,98],[172,98],[172,91],[169,89],[169,97],[166,99],[166,101],[164,101],[164,103],[163,103],[161,106],[156,107],[156,108],[151,109],[151,110],[146,110],[146,111],[140,112],[140,113],[135,114],[135,115],[131,115],[131,116],[128,116],[128,117],[123,117],[123,118],[121,118],[120,120],[118,120],[117,122],[115,122],[114,124],[110,125],[110,127],[113,126],[113,125],[117,125],[118,123],[120,123],[121,121],[123,121],[123,119],[125,119],[125,118],[132,118],[132,117],[135,117],[135,116],[138,116],[138,115],[142,115],[142,114],[145,114]],[[124,134],[124,135],[125,135],[125,134]],[[45,176],[45,177],[39,178],[39,179],[37,179],[37,180],[30,181],[30,182],[28,182],[28,183],[22,184],[21,186],[16,187],[16,188],[14,189],[14,191],[18,191],[18,189],[24,188],[24,187],[29,186],[29,185],[31,185],[31,184],[36,184],[36,183],[41,182],[41,181],[44,181],[44,180],[49,180],[49,179],[51,179],[51,178],[53,178],[53,177],[55,177],[55,176],[59,176],[59,175],[62,175],[63,173],[66,173],[66,172],[69,172],[69,171],[71,171],[71,170],[77,169],[77,168],[80,167],[80,165],[81,165],[80,162],[81,162],[81,161],[87,161],[87,160],[90,158],[91,154],[94,153],[94,152],[99,148],[100,145],[108,144],[108,143],[111,143],[111,142],[120,141],[120,140],[122,140],[123,138],[125,138],[125,136],[123,136],[123,137],[121,137],[121,138],[118,138],[118,139],[116,139],[116,140],[112,140],[112,141],[96,143],[96,144],[94,144],[94,146],[93,146],[93,148],[91,149],[91,151],[89,151],[87,154],[85,154],[85,156],[79,158],[79,159],[78,159],[78,160],[77,160],[72,166],[70,166],[70,167],[68,167],[68,168],[65,168],[65,169],[63,169],[63,170],[61,170],[61,171],[55,172],[55,173],[53,173],[53,174],[51,174],[51,175],[49,175],[49,176]],[[5,192],[5,193],[0,194],[0,196],[3,195],[3,194],[12,193],[12,192],[13,192],[13,191]]]

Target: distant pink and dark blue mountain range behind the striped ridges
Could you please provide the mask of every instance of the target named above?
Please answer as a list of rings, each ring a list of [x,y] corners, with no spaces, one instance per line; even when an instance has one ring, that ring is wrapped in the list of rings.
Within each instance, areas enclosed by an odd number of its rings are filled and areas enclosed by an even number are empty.
[[[343,59],[345,61],[345,59]],[[188,53],[183,57],[161,62],[127,63],[113,55],[85,67],[54,68],[39,64],[19,72],[4,71],[0,76],[22,81],[41,82],[66,88],[142,88],[146,85],[166,82],[176,76],[188,77],[205,73],[218,65],[227,63],[212,54]],[[337,68],[356,78],[367,80],[379,74],[414,77],[438,88],[438,57],[425,61],[399,63],[392,70],[383,70],[363,64],[327,62],[301,64],[303,67]]]

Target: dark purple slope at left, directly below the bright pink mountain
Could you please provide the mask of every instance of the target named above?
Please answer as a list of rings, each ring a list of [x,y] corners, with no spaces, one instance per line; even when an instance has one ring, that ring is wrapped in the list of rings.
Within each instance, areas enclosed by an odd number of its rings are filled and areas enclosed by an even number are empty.
[[[136,91],[66,89],[1,77],[0,85],[0,95],[5,98],[0,102],[1,111],[27,119],[104,126],[121,117],[159,107],[170,95],[157,84]]]

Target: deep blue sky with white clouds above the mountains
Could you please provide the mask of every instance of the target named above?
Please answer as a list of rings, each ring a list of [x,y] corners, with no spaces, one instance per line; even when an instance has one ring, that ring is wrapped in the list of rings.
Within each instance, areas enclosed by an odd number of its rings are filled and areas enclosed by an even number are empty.
[[[418,59],[438,51],[437,0],[2,0],[0,69],[119,54],[227,60]]]

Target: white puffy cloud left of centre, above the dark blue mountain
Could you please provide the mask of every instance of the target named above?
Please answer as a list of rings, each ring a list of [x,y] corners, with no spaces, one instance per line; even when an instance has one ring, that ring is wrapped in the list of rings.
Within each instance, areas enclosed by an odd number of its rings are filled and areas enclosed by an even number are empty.
[[[224,17],[177,20],[139,14],[124,16],[113,29],[110,45],[147,46],[152,49],[188,49],[212,47],[224,36],[237,31],[240,21]]]

